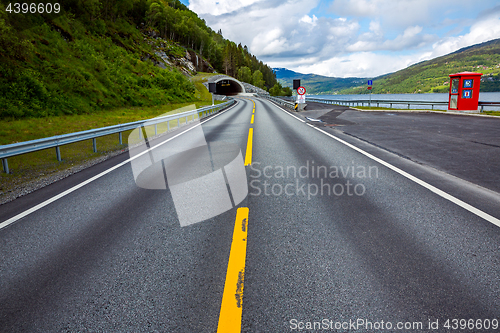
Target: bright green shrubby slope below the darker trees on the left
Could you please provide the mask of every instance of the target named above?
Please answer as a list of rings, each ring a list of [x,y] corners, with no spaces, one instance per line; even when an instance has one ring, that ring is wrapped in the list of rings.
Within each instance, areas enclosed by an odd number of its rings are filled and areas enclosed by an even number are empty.
[[[0,119],[196,100],[193,84],[179,70],[155,65],[155,39],[130,22],[108,22],[105,33],[95,34],[63,15],[17,32],[2,23],[4,15],[0,11]],[[171,46],[179,48],[169,44],[166,52]]]

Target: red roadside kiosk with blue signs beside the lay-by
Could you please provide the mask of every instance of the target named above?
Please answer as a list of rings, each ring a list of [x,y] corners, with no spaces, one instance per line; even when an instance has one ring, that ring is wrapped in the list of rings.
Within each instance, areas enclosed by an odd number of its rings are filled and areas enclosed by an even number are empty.
[[[448,110],[477,111],[481,75],[483,73],[450,74]]]

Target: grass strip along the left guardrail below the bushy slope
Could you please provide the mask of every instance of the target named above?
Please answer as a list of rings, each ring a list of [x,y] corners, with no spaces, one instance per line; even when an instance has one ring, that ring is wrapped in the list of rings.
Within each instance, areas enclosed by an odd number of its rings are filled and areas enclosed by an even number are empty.
[[[175,114],[211,105],[211,95],[203,86],[209,74],[202,73],[193,77],[197,89],[198,101],[166,104],[153,107],[117,108],[110,111],[92,114],[62,115],[45,118],[29,118],[22,120],[0,121],[0,145],[22,142],[54,135],[84,131],[99,127],[128,123],[137,120],[151,119],[163,114]],[[220,102],[216,102],[220,103]],[[188,119],[189,121],[192,118]],[[185,122],[181,120],[181,125]],[[177,126],[177,121],[169,123],[170,128]],[[167,123],[157,126],[158,134],[167,131]],[[146,128],[148,135],[154,134],[154,127]],[[110,154],[120,153],[127,147],[130,131],[123,132],[123,144],[119,144],[118,134],[97,138],[97,153],[93,152],[92,141],[86,140],[62,146],[62,161],[57,161],[55,149],[46,149],[34,153],[8,158],[10,174],[0,172],[0,203],[12,197],[18,190],[34,181],[50,178],[66,170],[79,168],[84,164],[93,164]]]

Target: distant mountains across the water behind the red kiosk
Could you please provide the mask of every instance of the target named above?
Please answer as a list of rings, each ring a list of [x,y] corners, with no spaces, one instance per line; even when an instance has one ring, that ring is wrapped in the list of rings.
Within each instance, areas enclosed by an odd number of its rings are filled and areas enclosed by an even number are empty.
[[[283,86],[301,79],[311,94],[365,94],[368,78],[335,78],[301,74],[285,68],[273,68]],[[413,64],[405,69],[373,78],[372,92],[436,93],[448,92],[449,75],[480,72],[481,91],[500,91],[500,39],[461,48],[450,54]]]

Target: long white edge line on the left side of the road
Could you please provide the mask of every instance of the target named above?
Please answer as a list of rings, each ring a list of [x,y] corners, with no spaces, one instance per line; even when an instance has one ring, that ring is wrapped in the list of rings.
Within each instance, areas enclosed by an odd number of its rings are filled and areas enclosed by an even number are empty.
[[[151,147],[151,148],[149,148],[149,149],[147,149],[147,150],[143,151],[142,153],[137,154],[136,156],[134,156],[134,157],[132,157],[132,158],[129,158],[128,160],[123,161],[123,162],[121,162],[121,163],[119,163],[119,164],[117,164],[117,165],[115,165],[115,166],[113,166],[113,167],[111,167],[111,168],[109,168],[109,169],[107,169],[107,170],[105,170],[105,171],[101,172],[100,174],[95,175],[94,177],[89,178],[89,179],[87,179],[87,180],[85,180],[85,181],[81,182],[80,184],[77,184],[77,185],[73,186],[72,188],[67,189],[67,190],[66,190],[66,191],[64,191],[64,192],[61,192],[61,193],[59,193],[58,195],[55,195],[55,196],[53,196],[52,198],[47,199],[47,200],[45,200],[44,202],[39,203],[38,205],[36,205],[36,206],[34,206],[34,207],[30,208],[30,209],[27,209],[27,210],[25,210],[25,211],[24,211],[24,212],[22,212],[22,213],[17,214],[16,216],[11,217],[11,218],[10,218],[10,219],[8,219],[8,220],[5,220],[4,222],[0,223],[0,229],[3,229],[3,228],[5,228],[6,226],[8,226],[8,225],[10,225],[10,224],[12,224],[12,223],[14,223],[14,222],[16,222],[16,221],[18,221],[18,220],[22,219],[23,217],[25,217],[25,216],[27,216],[27,215],[29,215],[29,214],[33,213],[33,212],[36,212],[37,210],[39,210],[39,209],[41,209],[41,208],[43,208],[43,207],[45,207],[45,206],[47,206],[47,205],[49,205],[49,204],[53,203],[53,202],[54,202],[54,201],[56,201],[56,200],[61,199],[62,197],[64,197],[64,196],[66,196],[66,195],[70,194],[71,192],[74,192],[74,191],[76,191],[76,190],[78,190],[78,189],[82,188],[83,186],[85,186],[85,185],[87,185],[87,184],[89,184],[89,183],[93,182],[94,180],[99,179],[99,178],[101,178],[102,176],[107,175],[107,174],[108,174],[108,173],[110,173],[111,171],[114,171],[114,170],[118,169],[119,167],[124,166],[125,164],[129,163],[130,161],[133,161],[133,160],[135,160],[136,158],[138,158],[138,157],[140,157],[140,156],[142,156],[142,155],[144,155],[144,154],[149,153],[151,150],[153,150],[153,149],[155,149],[155,148],[157,148],[157,147],[159,147],[159,146],[161,146],[161,145],[163,145],[163,144],[165,144],[165,143],[169,142],[170,140],[175,139],[176,137],[178,137],[178,136],[180,136],[180,135],[182,135],[182,134],[184,134],[184,133],[187,133],[188,131],[192,130],[193,128],[196,128],[196,127],[200,126],[201,124],[204,124],[204,123],[206,123],[207,121],[210,121],[210,120],[212,120],[212,119],[214,119],[214,118],[216,118],[216,117],[220,116],[221,114],[225,113],[226,111],[231,110],[232,108],[234,108],[234,107],[235,107],[236,105],[238,105],[238,104],[239,104],[239,102],[237,102],[235,105],[233,105],[233,106],[231,106],[231,107],[227,108],[226,110],[224,110],[224,111],[220,112],[219,114],[216,114],[215,116],[210,117],[209,119],[204,120],[204,121],[200,122],[199,124],[197,124],[197,125],[195,125],[195,126],[193,126],[193,127],[190,127],[190,128],[188,128],[188,129],[186,129],[185,131],[183,131],[183,132],[181,132],[181,133],[179,133],[179,134],[176,134],[176,135],[174,135],[173,137],[171,137],[171,138],[169,138],[169,139],[167,139],[167,140],[165,140],[165,141],[163,141],[163,142],[160,142],[160,143],[159,143],[159,144],[157,144],[156,146]]]

